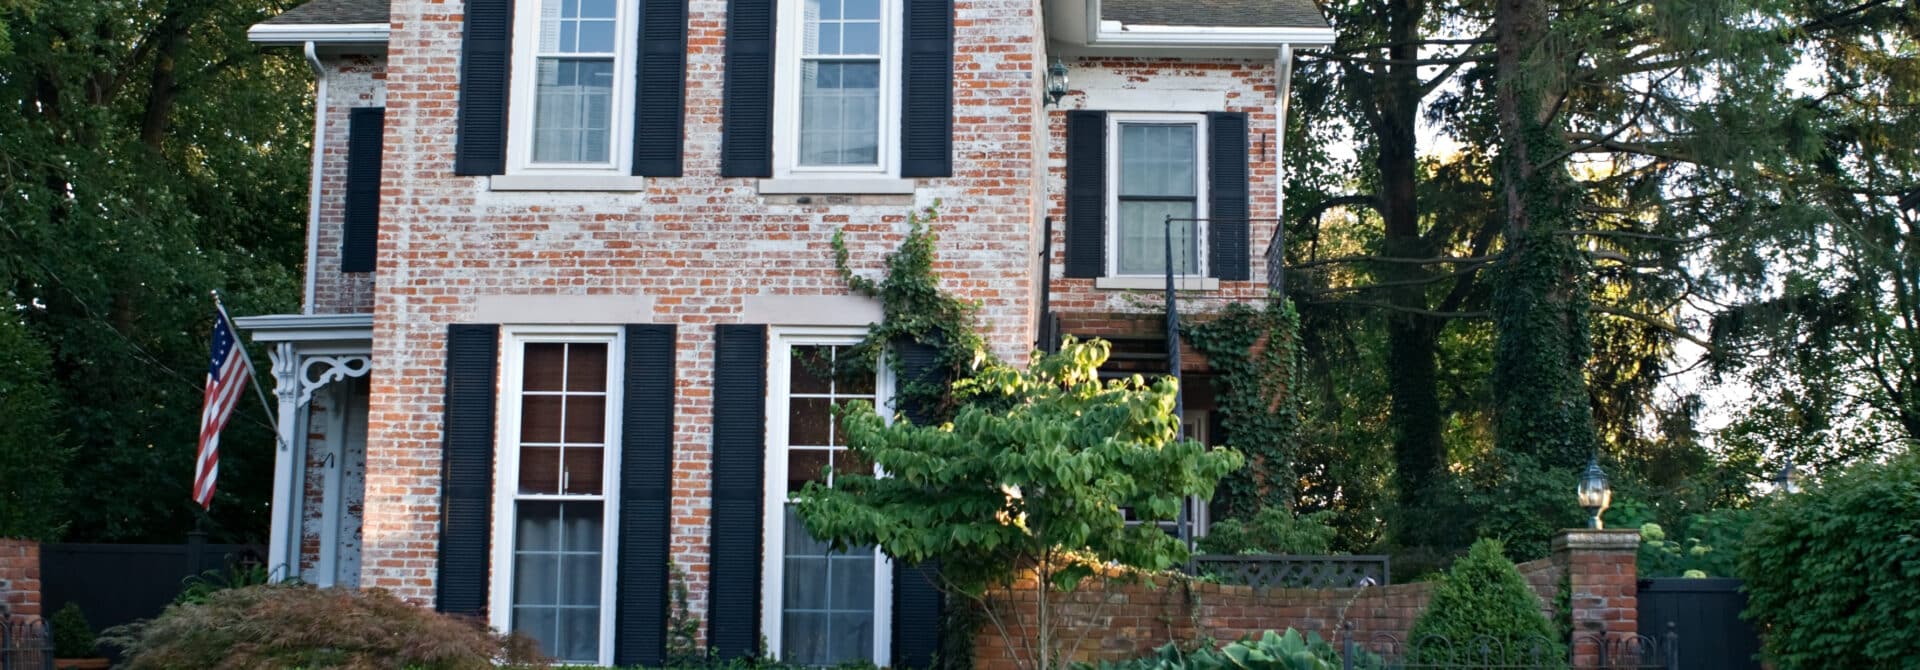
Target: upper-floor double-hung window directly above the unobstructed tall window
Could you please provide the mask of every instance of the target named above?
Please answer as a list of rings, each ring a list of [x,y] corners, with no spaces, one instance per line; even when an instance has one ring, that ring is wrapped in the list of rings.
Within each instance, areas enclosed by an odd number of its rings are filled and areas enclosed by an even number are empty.
[[[626,175],[634,132],[636,4],[522,0],[515,12],[511,131],[516,173]]]

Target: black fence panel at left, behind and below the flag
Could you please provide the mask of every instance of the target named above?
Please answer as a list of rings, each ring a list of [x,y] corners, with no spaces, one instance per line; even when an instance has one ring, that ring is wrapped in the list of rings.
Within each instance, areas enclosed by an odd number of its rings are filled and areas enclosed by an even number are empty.
[[[40,603],[52,616],[79,603],[94,632],[154,618],[180,595],[186,578],[257,555],[248,545],[40,545]]]

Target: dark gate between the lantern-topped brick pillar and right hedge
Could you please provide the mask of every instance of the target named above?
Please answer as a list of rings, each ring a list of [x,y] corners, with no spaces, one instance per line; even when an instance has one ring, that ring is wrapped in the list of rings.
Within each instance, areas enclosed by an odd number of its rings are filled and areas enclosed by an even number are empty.
[[[1688,670],[1759,670],[1761,635],[1740,618],[1747,593],[1740,580],[1640,580],[1640,634],[1680,634]]]

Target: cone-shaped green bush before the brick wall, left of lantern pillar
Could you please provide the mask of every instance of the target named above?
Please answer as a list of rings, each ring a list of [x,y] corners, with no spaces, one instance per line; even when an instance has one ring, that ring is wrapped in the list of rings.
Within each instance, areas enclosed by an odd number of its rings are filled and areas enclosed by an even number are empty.
[[[1501,658],[1482,658],[1476,639],[1498,643]],[[1427,610],[1407,634],[1407,649],[1419,662],[1567,666],[1565,641],[1498,539],[1475,541],[1434,584]]]

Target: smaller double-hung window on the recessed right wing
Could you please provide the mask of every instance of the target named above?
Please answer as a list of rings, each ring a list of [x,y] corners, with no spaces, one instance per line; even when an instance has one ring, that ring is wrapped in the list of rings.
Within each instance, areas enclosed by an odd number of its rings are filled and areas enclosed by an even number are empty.
[[[1206,276],[1206,227],[1192,221],[1206,217],[1206,117],[1112,113],[1108,123],[1108,275],[1165,275],[1171,217],[1173,273]]]

